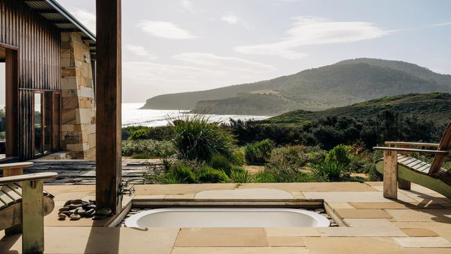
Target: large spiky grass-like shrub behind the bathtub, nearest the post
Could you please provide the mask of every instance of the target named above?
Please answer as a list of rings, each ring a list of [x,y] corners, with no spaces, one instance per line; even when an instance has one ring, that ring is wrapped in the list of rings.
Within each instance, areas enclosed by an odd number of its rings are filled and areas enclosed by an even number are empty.
[[[210,161],[214,154],[220,154],[232,163],[239,163],[237,142],[221,124],[210,122],[205,115],[186,115],[172,124],[176,132],[172,142],[179,158]]]

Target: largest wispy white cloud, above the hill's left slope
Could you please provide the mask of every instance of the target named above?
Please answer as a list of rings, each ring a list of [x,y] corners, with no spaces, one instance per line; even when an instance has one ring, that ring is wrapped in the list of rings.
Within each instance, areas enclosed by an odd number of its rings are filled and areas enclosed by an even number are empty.
[[[358,42],[389,34],[368,22],[332,22],[321,17],[293,18],[293,27],[287,31],[287,37],[278,42],[252,44],[235,47],[239,53],[262,56],[280,56],[299,59],[307,53],[299,52],[300,46]]]

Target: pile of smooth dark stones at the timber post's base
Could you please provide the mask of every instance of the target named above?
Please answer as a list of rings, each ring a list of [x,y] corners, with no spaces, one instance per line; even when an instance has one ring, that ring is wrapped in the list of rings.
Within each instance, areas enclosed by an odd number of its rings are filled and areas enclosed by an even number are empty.
[[[58,220],[78,221],[81,218],[105,219],[111,215],[110,208],[102,208],[96,211],[96,201],[83,201],[74,199],[66,201],[65,205],[58,210]]]

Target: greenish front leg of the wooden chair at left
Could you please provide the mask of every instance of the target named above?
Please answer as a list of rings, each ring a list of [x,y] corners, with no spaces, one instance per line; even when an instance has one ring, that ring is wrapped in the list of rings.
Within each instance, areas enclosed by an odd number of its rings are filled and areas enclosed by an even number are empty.
[[[42,180],[22,182],[22,252],[44,252],[44,208]]]

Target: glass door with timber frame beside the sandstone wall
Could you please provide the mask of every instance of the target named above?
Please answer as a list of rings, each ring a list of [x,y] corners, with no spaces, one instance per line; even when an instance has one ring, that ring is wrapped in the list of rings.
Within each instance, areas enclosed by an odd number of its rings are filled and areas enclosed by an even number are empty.
[[[33,118],[35,157],[60,150],[60,114],[60,92],[35,92]]]

